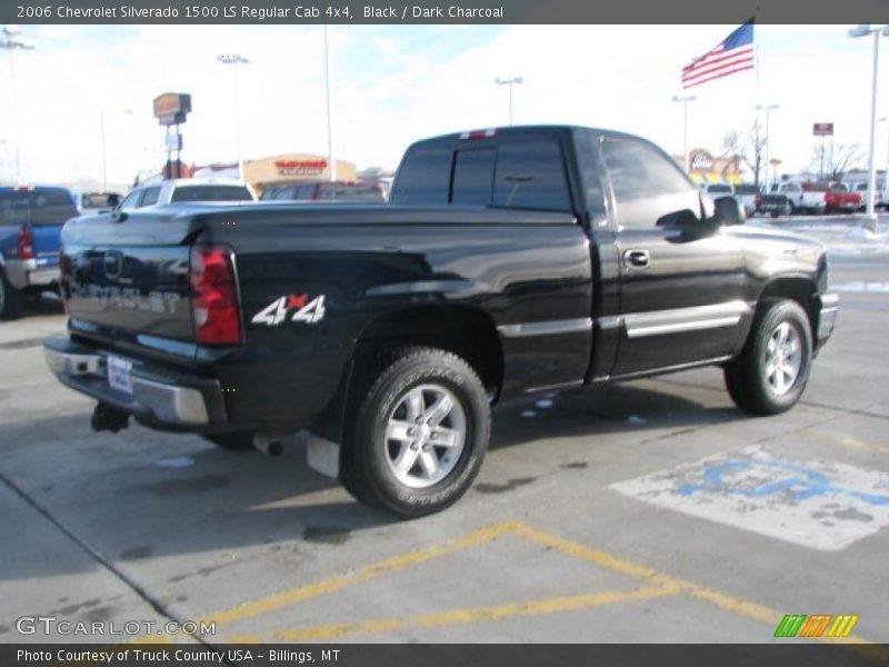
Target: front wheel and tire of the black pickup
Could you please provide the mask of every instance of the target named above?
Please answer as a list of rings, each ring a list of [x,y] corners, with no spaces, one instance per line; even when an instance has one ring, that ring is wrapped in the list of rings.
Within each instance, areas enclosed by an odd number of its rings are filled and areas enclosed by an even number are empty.
[[[780,370],[775,369],[776,358],[783,360]],[[743,350],[726,366],[726,387],[742,410],[785,412],[806,389],[811,358],[811,325],[802,307],[787,299],[765,299]]]

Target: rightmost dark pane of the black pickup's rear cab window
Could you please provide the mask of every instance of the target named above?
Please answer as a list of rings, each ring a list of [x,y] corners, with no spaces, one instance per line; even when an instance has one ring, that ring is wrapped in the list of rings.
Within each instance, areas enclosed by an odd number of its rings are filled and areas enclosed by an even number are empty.
[[[493,206],[569,211],[565,162],[556,139],[505,141],[497,152]]]

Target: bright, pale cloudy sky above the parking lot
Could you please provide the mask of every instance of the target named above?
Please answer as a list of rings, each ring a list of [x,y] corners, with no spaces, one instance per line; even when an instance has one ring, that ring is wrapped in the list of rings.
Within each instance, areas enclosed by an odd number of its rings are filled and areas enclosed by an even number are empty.
[[[615,129],[682,152],[680,70],[735,26],[333,26],[329,28],[334,155],[359,169],[394,169],[417,139],[507,125],[507,87],[521,76],[516,125]],[[755,106],[770,113],[770,157],[780,171],[812,161],[813,122],[833,122],[837,145],[867,150],[872,41],[850,26],[757,26],[759,67],[692,89],[689,149],[720,155],[725,135],[747,130]],[[21,172],[31,182],[102,182],[104,119],[109,183],[159,169],[162,127],[151,100],[189,92],[182,126],[189,163],[237,159],[234,67],[242,53],[244,159],[327,153],[321,26],[26,26],[34,50],[16,57]],[[886,42],[886,40],[882,40]],[[881,50],[878,117],[889,116],[889,44]],[[0,53],[0,180],[12,177],[10,59]],[[765,120],[765,117],[762,117]],[[878,125],[877,165],[889,156]],[[861,161],[863,166],[863,160]]]

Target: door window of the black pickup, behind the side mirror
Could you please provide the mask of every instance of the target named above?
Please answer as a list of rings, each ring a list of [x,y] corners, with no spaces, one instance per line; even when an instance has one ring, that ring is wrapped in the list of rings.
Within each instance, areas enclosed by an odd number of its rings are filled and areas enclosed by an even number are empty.
[[[602,156],[621,227],[655,228],[689,216],[700,219],[698,189],[653,147],[609,138],[602,141]]]

